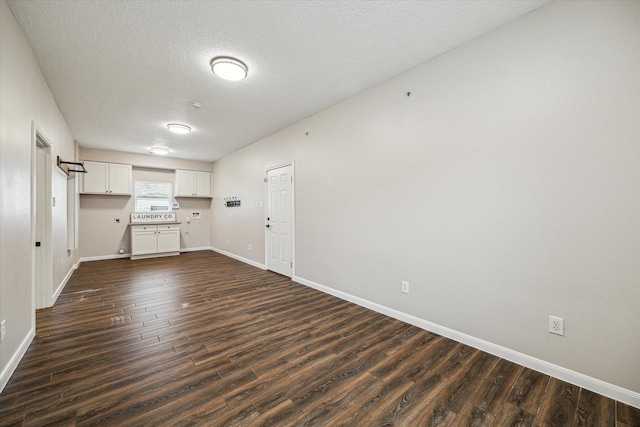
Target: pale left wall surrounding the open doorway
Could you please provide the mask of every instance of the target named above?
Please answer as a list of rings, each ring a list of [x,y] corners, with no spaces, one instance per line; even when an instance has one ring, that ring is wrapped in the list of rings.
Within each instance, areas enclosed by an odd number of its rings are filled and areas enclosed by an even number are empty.
[[[31,230],[32,121],[56,156],[74,159],[74,142],[9,7],[0,0],[0,389],[35,331]],[[52,166],[53,289],[77,262],[67,251],[67,176]]]

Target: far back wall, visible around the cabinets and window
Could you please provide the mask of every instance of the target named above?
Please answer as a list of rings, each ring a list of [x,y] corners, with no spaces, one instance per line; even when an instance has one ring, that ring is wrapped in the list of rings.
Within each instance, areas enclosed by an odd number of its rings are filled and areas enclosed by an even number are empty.
[[[82,160],[133,164],[133,181],[170,182],[175,185],[175,169],[211,172],[211,163],[195,160],[172,159],[153,155],[124,153],[95,149],[80,149]],[[211,199],[174,199],[180,204],[176,218],[180,225],[181,250],[208,249],[211,233]],[[108,196],[101,194],[80,195],[79,235],[81,259],[104,259],[118,257],[123,248],[131,252],[131,238],[128,227],[129,215],[134,211],[134,196]],[[201,218],[186,222],[191,212],[199,211]],[[115,218],[120,223],[114,222]],[[127,255],[128,256],[128,255]]]

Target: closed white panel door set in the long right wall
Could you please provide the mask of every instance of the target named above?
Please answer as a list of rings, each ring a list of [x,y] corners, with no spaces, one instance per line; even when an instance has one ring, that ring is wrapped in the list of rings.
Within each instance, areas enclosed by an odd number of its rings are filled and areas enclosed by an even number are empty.
[[[267,269],[293,276],[293,166],[267,171]]]

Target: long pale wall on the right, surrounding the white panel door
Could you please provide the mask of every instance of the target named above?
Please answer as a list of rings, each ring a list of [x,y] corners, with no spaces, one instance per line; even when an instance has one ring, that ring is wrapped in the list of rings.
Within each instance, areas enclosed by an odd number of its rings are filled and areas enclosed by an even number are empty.
[[[299,280],[638,406],[639,70],[640,3],[544,6],[215,162],[212,246],[264,264],[295,161]]]

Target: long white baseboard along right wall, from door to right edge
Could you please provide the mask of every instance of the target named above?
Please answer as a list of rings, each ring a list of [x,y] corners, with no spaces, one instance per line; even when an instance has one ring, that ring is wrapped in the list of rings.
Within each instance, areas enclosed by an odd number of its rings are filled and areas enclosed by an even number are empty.
[[[463,344],[517,363],[535,371],[542,372],[543,374],[558,378],[562,381],[566,381],[579,387],[586,388],[587,390],[591,390],[603,396],[610,397],[633,407],[640,408],[640,393],[636,393],[632,390],[627,390],[625,388],[607,383],[597,378],[593,378],[579,372],[563,368],[562,366],[554,365],[553,363],[549,363],[544,360],[526,355],[524,353],[520,353],[515,350],[511,350],[509,348],[482,340],[480,338],[476,338],[471,335],[449,329],[447,327],[429,322],[411,314],[386,307],[384,305],[330,288],[328,286],[321,285],[319,283],[315,283],[302,277],[294,276],[293,281],[333,295],[345,301],[349,301],[359,306],[368,308],[370,310],[377,311],[378,313],[393,317],[394,319],[401,320],[405,323],[409,323],[427,331],[434,332],[438,335],[442,335],[452,340],[461,342]]]

